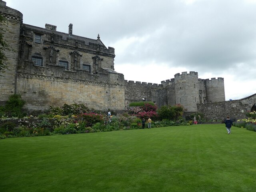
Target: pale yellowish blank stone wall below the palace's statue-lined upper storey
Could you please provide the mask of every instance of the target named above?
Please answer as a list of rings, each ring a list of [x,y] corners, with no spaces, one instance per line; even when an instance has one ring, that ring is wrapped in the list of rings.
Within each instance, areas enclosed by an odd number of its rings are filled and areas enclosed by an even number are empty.
[[[89,108],[123,110],[125,89],[117,78],[118,74],[63,71],[60,66],[34,66],[31,61],[20,60],[17,93],[26,100],[24,108],[27,110],[45,110],[49,105],[62,106],[64,103],[87,103]]]

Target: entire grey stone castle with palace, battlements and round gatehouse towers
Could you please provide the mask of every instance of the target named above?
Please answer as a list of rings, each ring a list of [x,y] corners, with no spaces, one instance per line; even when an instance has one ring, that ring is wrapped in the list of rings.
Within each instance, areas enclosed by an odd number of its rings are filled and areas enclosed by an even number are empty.
[[[0,77],[0,104],[20,94],[28,111],[45,110],[49,105],[87,103],[98,110],[126,110],[130,102],[153,101],[163,105],[181,104],[196,112],[197,104],[225,100],[224,79],[198,79],[194,71],[176,74],[161,84],[124,80],[114,70],[114,48],[96,39],[24,24],[18,10],[0,0],[4,40],[14,51],[4,51],[8,69]]]

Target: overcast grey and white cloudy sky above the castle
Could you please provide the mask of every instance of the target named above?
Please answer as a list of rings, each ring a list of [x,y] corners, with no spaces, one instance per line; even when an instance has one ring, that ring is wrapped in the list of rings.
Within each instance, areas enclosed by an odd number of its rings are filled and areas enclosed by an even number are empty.
[[[38,27],[115,48],[126,80],[161,84],[174,74],[224,78],[226,100],[256,93],[256,0],[4,0]]]

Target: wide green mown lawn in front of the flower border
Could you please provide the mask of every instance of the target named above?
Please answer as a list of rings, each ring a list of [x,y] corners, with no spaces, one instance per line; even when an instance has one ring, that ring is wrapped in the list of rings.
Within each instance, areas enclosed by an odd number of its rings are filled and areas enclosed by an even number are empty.
[[[1,192],[254,192],[256,132],[224,124],[0,140]]]

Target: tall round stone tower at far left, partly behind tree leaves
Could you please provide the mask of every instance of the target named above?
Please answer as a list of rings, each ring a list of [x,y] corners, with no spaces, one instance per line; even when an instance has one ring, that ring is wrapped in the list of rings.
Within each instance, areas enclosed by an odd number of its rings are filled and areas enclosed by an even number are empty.
[[[1,24],[4,31],[3,39],[14,51],[4,51],[7,57],[8,70],[1,73],[0,77],[0,104],[4,104],[9,96],[16,92],[16,72],[18,66],[20,26],[22,24],[23,15],[21,12],[6,6],[6,2],[0,0],[0,14],[6,18],[7,24]]]

